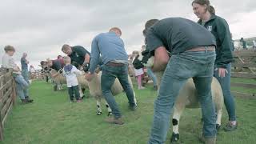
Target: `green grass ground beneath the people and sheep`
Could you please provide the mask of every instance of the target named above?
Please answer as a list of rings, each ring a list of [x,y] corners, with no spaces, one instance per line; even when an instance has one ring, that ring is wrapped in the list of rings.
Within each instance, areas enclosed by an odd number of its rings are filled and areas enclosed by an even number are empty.
[[[235,80],[234,81],[238,81]],[[137,86],[134,86],[137,87]],[[102,105],[102,115],[96,115],[94,98],[86,98],[82,103],[70,103],[66,90],[54,91],[51,84],[35,81],[30,87],[33,104],[22,105],[19,101],[6,120],[4,127],[5,144],[37,143],[93,143],[93,144],[136,144],[146,143],[153,118],[156,92],[153,86],[137,90],[138,110],[128,110],[125,94],[116,100],[122,110],[123,126],[104,122],[107,111]],[[255,90],[251,90],[255,92]],[[86,90],[88,95],[88,90]],[[230,133],[218,132],[219,144],[256,143],[256,99],[236,98],[238,130]],[[227,122],[226,109],[222,126]],[[181,118],[180,142],[198,143],[202,129],[201,110],[186,109]],[[170,127],[171,132],[171,127]],[[169,143],[170,134],[166,143]]]

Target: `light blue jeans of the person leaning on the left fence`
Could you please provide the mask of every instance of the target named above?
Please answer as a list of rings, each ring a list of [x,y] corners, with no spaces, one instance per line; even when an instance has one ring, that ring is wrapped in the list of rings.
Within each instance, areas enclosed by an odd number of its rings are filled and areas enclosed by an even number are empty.
[[[26,80],[22,77],[21,74],[15,74],[14,79],[16,82],[16,91],[17,91],[18,97],[21,99],[25,99],[26,97],[29,96],[29,93],[28,93],[29,83],[26,82]]]

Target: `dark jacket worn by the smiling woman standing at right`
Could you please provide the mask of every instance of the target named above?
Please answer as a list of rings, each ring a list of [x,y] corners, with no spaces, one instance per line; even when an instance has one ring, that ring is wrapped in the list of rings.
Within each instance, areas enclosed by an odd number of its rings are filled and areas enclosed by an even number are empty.
[[[202,25],[202,20],[198,21]],[[216,60],[215,65],[217,67],[226,68],[226,65],[230,62],[234,62],[232,51],[234,46],[232,44],[232,38],[230,28],[225,19],[212,15],[210,20],[204,25],[216,38]]]

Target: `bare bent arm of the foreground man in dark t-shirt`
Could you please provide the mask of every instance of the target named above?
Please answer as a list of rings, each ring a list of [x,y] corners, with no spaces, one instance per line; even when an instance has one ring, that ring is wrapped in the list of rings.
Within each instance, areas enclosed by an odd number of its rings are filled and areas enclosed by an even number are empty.
[[[170,57],[166,48],[164,46],[158,47],[154,50],[154,66],[152,67],[152,70],[154,72],[165,70],[169,60]]]

